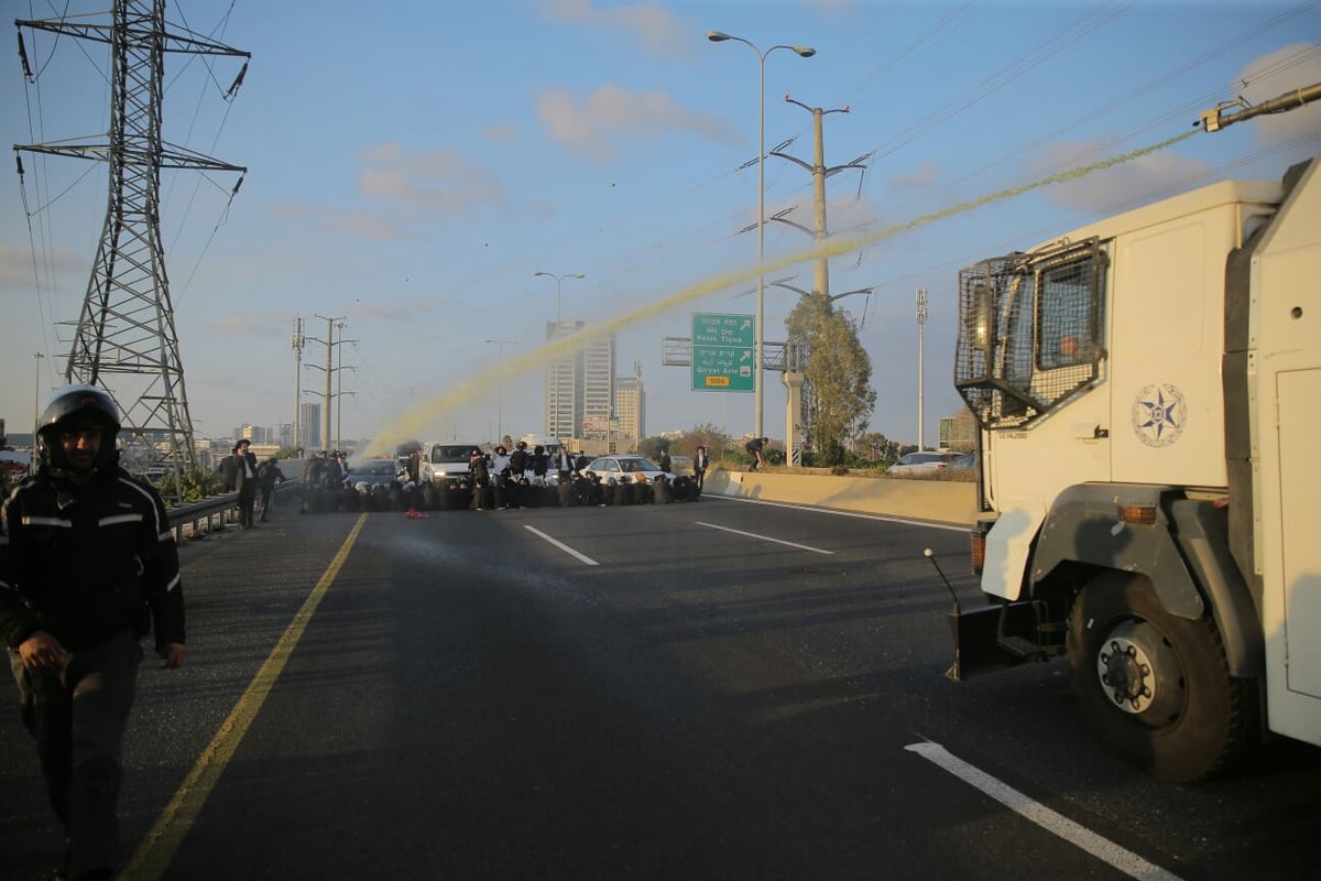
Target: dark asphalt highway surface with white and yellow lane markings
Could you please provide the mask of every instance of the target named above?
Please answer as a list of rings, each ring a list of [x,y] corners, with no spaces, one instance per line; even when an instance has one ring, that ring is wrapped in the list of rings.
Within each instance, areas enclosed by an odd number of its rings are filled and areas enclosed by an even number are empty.
[[[1321,750],[1170,786],[1096,748],[1061,664],[950,683],[925,547],[976,602],[962,528],[713,498],[281,510],[190,543],[189,663],[143,672],[124,860],[186,881],[1314,876]],[[0,878],[58,845],[0,713]]]

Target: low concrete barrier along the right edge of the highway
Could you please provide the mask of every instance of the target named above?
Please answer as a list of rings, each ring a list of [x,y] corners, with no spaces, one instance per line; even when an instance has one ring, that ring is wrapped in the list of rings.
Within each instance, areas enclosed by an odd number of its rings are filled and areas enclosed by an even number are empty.
[[[958,481],[716,469],[707,472],[705,491],[970,526],[978,512],[976,483]]]

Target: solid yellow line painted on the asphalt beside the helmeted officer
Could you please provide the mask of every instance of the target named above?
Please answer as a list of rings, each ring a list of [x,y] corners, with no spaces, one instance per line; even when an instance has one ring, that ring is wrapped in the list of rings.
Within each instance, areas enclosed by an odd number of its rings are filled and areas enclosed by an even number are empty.
[[[284,672],[284,664],[288,663],[295,646],[303,638],[303,631],[306,630],[308,622],[312,621],[313,613],[321,605],[321,600],[325,598],[330,584],[339,575],[339,568],[349,559],[349,551],[353,548],[354,542],[358,540],[358,532],[362,531],[362,524],[366,522],[367,515],[362,514],[358,522],[353,524],[349,538],[343,540],[339,552],[330,560],[330,565],[321,575],[317,586],[304,600],[303,608],[293,616],[293,621],[285,627],[284,634],[275,643],[275,647],[260,670],[256,671],[252,682],[248,683],[247,691],[239,697],[239,703],[234,705],[234,709],[221,725],[221,730],[215,733],[211,742],[202,750],[193,770],[184,779],[184,783],[180,785],[178,791],[174,793],[174,798],[161,811],[160,818],[157,818],[156,824],[152,826],[147,837],[143,839],[143,843],[137,845],[133,857],[124,866],[120,877],[131,878],[132,881],[156,881],[165,876],[165,870],[174,859],[178,845],[184,841],[184,836],[188,835],[193,823],[197,822],[197,816],[202,812],[207,796],[215,789],[221,774],[225,773],[226,765],[234,757],[248,728],[252,726],[252,721],[256,719],[258,712],[260,712],[262,704],[266,703],[280,674]]]

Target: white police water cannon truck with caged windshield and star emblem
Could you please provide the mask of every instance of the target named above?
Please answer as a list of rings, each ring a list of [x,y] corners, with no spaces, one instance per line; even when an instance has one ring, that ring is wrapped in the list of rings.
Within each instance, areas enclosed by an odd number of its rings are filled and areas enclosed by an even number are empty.
[[[1263,719],[1321,744],[1318,166],[959,275],[991,605],[955,610],[951,675],[1063,655],[1107,746],[1169,779]]]

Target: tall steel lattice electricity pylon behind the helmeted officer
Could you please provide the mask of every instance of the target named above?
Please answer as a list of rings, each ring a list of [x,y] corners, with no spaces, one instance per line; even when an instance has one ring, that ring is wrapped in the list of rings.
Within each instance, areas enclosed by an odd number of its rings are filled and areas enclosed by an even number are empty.
[[[111,48],[111,119],[104,144],[16,144],[16,151],[74,156],[110,164],[110,199],[100,244],[69,350],[67,382],[100,386],[123,413],[131,468],[174,476],[196,468],[193,423],[184,363],[174,332],[160,234],[160,172],[247,169],[166,144],[161,103],[166,52],[251,58],[192,33],[165,29],[165,0],[115,0],[110,24],[59,18],[16,21],[24,74],[34,82],[22,28],[92,40]],[[247,62],[226,99],[234,95]],[[20,162],[21,173],[21,162]],[[230,194],[238,192],[243,180]]]

